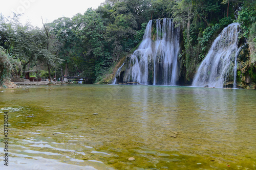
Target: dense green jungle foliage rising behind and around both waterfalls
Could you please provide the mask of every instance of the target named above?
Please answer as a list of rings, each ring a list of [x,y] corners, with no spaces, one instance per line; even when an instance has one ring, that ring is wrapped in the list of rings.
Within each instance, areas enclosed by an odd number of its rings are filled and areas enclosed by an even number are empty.
[[[38,77],[53,77],[56,70],[57,78],[62,73],[95,77],[100,82],[121,58],[134,51],[148,20],[165,17],[182,28],[179,59],[184,82],[193,79],[211,43],[232,22],[241,24],[241,41],[248,44],[250,68],[255,70],[254,0],[106,0],[97,9],[84,10],[42,28],[22,25],[19,15],[7,18],[1,14],[0,83],[24,76],[27,70],[38,70]]]

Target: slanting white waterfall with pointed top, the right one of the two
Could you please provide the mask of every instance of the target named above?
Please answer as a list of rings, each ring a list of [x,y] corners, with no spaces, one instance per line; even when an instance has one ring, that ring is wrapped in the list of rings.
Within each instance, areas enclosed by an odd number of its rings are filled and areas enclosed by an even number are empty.
[[[223,29],[199,66],[193,86],[222,88],[228,76],[237,71],[238,34],[239,23],[231,23]],[[232,65],[234,65],[233,69]],[[234,81],[236,81],[235,77]]]

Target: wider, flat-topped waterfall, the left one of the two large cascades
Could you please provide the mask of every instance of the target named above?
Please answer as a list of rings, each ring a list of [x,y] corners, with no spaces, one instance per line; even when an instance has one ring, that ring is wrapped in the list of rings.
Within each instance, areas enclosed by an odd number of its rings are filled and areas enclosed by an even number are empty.
[[[178,79],[178,55],[180,51],[180,28],[172,19],[153,20],[146,26],[143,40],[126,63],[128,69],[123,82],[140,84],[176,85]],[[152,31],[155,31],[152,37]],[[154,40],[153,40],[154,39]]]

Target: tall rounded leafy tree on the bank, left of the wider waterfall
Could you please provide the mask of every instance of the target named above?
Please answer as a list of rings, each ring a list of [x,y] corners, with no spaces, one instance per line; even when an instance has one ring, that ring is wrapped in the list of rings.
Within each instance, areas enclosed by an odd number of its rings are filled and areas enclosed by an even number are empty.
[[[89,61],[88,64],[95,63],[96,77],[104,75],[112,64],[112,57],[103,18],[95,10],[88,9],[83,15],[77,14],[72,19],[76,25],[74,32],[81,41],[83,57]],[[87,70],[83,75],[88,75]]]

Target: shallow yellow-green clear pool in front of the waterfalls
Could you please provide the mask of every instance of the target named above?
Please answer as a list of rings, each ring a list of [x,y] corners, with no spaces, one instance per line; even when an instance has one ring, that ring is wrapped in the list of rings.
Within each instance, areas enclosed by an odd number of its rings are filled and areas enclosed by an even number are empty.
[[[0,113],[0,169],[256,169],[256,90],[23,86]]]

